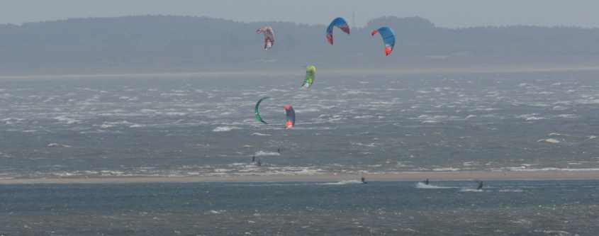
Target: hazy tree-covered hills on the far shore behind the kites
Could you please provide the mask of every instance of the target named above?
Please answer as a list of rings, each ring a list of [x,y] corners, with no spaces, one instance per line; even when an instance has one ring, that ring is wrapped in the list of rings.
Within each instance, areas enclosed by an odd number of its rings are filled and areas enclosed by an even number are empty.
[[[274,28],[274,47],[262,50],[255,30]],[[390,26],[396,49],[384,57],[379,35]],[[406,61],[468,58],[597,57],[599,29],[574,27],[440,28],[423,18],[384,17],[352,35],[289,22],[240,23],[186,16],[79,18],[0,25],[0,73],[192,72],[206,69],[393,67]]]

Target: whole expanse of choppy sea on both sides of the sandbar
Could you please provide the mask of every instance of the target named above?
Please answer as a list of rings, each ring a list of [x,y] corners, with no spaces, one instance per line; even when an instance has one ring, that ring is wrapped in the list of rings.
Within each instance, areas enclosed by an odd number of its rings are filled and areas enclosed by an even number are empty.
[[[599,72],[303,76],[0,78],[0,179],[599,171]],[[599,234],[597,181],[347,181],[3,185],[0,233]]]

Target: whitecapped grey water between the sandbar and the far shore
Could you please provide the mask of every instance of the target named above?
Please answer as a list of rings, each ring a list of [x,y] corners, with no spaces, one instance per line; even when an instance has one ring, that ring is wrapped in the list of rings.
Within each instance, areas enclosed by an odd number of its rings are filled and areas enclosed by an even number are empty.
[[[0,177],[597,169],[598,76],[2,79]]]

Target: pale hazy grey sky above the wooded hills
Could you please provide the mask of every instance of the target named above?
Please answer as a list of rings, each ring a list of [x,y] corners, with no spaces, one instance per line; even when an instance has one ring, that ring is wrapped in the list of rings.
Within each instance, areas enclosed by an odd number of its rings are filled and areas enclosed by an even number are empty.
[[[437,26],[599,27],[597,0],[0,0],[0,23],[168,14],[235,21],[328,23],[335,16],[364,25],[379,16],[422,16]]]

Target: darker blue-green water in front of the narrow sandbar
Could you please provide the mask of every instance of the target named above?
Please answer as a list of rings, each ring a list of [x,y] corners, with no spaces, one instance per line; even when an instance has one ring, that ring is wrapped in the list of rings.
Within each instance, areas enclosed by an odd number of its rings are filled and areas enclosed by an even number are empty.
[[[0,186],[0,235],[597,235],[599,181]]]

